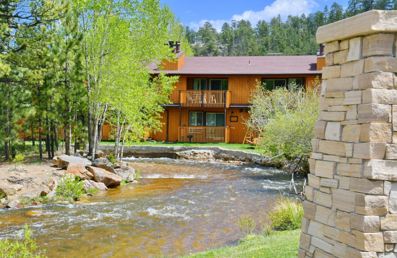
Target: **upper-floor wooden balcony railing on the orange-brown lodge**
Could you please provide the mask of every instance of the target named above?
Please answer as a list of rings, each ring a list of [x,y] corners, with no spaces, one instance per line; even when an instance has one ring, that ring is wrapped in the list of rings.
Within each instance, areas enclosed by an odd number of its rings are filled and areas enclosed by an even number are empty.
[[[182,107],[228,108],[230,94],[228,90],[180,90]]]

